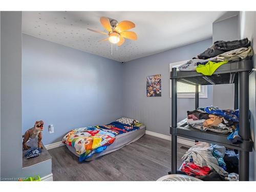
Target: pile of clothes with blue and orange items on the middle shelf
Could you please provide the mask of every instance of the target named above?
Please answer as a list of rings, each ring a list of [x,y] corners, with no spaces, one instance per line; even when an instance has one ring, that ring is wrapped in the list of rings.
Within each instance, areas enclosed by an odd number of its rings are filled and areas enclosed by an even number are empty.
[[[229,134],[227,139],[241,143],[239,136],[239,110],[221,110],[217,106],[206,106],[187,111],[187,124],[201,131]]]

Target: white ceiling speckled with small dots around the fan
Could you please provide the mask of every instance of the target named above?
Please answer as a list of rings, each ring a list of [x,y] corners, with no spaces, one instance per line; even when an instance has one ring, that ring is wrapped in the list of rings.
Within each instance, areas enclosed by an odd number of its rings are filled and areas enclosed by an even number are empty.
[[[129,61],[164,50],[190,44],[212,36],[212,22],[225,12],[23,12],[23,33],[117,61]],[[126,39],[116,50],[109,41],[98,42],[105,35],[101,16],[131,20],[138,40]]]

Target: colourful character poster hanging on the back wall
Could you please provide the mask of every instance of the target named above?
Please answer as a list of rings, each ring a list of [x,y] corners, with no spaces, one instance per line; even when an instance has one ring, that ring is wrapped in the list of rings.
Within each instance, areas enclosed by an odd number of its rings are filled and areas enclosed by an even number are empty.
[[[150,75],[146,77],[146,96],[161,97],[161,74]]]

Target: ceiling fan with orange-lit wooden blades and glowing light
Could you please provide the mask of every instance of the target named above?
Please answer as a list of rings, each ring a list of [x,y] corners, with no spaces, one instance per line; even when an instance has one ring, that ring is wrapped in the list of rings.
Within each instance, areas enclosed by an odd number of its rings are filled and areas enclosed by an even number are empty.
[[[99,41],[109,40],[112,44],[117,44],[121,46],[125,39],[137,40],[137,34],[133,31],[126,31],[132,28],[135,28],[135,24],[130,22],[130,20],[123,20],[122,22],[117,22],[115,19],[109,19],[108,17],[100,17],[100,23],[104,27],[106,31],[109,33],[105,33],[102,31],[97,31],[94,29],[88,29],[90,31],[108,35],[108,37],[101,39]]]

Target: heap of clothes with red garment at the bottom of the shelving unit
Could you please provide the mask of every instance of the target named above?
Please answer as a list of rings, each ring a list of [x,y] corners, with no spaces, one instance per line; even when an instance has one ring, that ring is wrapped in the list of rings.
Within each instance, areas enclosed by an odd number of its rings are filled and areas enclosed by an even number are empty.
[[[198,142],[189,148],[182,160],[179,174],[205,181],[239,180],[238,155],[224,146]]]

